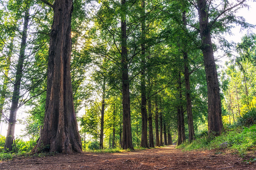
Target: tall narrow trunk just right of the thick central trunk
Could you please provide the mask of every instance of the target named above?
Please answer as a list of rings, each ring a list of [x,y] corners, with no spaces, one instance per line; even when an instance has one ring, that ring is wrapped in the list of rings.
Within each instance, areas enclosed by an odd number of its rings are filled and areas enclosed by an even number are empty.
[[[145,15],[145,0],[141,1],[142,17]],[[148,148],[148,113],[146,108],[146,80],[145,80],[145,20],[141,21],[141,143],[140,147]]]

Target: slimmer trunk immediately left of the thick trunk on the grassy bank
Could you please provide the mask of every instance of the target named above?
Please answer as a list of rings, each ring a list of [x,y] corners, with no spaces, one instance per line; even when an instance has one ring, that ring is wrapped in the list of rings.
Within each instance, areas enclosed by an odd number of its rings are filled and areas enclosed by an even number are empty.
[[[182,20],[184,27],[186,27],[186,11],[182,13]],[[190,98],[190,82],[189,82],[189,70],[188,70],[188,53],[183,51],[184,59],[184,77],[186,86],[186,100],[187,100],[187,115],[188,115],[188,141],[191,142],[195,139],[194,122],[192,115],[192,102]]]

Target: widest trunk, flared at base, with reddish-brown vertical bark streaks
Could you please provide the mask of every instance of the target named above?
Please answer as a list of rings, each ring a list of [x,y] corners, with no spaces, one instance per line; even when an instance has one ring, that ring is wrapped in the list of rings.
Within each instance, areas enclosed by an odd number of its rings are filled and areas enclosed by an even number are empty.
[[[82,153],[70,76],[72,0],[55,0],[53,11],[44,127],[32,152]]]

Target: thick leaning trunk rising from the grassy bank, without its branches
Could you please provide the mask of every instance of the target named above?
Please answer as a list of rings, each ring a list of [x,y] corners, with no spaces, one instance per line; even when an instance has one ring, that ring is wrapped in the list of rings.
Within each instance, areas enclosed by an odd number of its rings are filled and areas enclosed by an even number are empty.
[[[221,116],[220,88],[209,29],[207,1],[197,0],[197,8],[208,92],[208,134],[218,136],[222,133],[223,124]]]

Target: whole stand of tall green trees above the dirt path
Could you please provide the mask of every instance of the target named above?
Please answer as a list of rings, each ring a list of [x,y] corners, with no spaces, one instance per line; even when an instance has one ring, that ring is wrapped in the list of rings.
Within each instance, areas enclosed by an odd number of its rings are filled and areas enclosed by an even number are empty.
[[[0,152],[254,134],[255,26],[236,15],[248,2],[0,0]],[[234,27],[239,43],[225,39]]]

